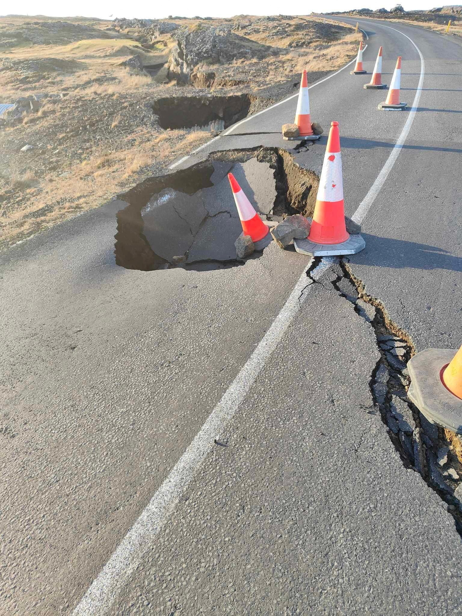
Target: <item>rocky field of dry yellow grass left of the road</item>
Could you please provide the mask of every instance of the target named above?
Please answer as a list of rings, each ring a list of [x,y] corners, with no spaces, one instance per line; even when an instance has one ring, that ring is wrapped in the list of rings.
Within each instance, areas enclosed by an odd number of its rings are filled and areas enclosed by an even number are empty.
[[[360,36],[312,17],[147,21],[0,18],[0,39],[25,34],[0,47],[0,103],[17,101],[0,118],[0,245],[161,174],[292,93],[302,68],[314,81],[344,65]],[[198,37],[184,79],[172,59]]]

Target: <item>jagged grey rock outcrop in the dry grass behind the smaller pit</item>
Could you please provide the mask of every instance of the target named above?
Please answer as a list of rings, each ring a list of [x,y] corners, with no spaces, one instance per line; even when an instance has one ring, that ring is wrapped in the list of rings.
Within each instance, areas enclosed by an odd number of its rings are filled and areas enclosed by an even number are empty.
[[[168,60],[169,73],[185,82],[190,81],[194,68],[201,63],[221,64],[254,57],[261,59],[269,55],[272,49],[265,45],[254,49],[254,44],[250,49],[249,41],[234,34],[230,25],[182,26],[172,36],[176,39],[176,45]]]

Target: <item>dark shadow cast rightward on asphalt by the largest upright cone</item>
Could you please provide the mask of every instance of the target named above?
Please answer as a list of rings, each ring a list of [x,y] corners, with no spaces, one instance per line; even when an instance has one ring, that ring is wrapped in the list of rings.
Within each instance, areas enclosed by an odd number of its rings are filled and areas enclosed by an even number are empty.
[[[462,258],[453,256],[437,246],[379,237],[369,233],[362,233],[362,236],[366,242],[366,249],[351,256],[352,263],[395,269],[442,269],[462,272]]]

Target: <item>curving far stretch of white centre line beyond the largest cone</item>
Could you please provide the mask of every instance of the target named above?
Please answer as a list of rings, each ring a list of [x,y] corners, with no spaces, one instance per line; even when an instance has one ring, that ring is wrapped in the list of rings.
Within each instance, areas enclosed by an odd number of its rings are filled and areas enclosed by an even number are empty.
[[[417,107],[419,105],[419,100],[420,100],[420,95],[421,95],[421,92],[422,92],[423,80],[424,80],[424,75],[425,75],[425,62],[424,62],[424,59],[423,59],[423,55],[421,54],[420,49],[418,48],[418,46],[416,46],[414,41],[411,38],[409,38],[407,36],[407,34],[404,34],[403,32],[400,32],[399,30],[396,30],[396,28],[392,28],[391,26],[384,26],[384,25],[381,25],[381,26],[383,28],[389,28],[389,30],[394,30],[395,32],[399,32],[400,34],[402,34],[403,36],[405,36],[407,39],[409,39],[411,41],[411,43],[416,48],[416,50],[418,51],[418,54],[420,56],[420,78],[419,78],[419,83],[418,83],[418,86],[417,86],[417,90],[416,90],[416,93],[415,93],[415,97],[414,97],[414,100],[413,100],[413,103],[412,103],[411,110],[409,111],[409,115],[408,115],[407,121],[406,121],[405,125],[403,126],[403,130],[402,130],[402,132],[401,132],[397,142],[395,143],[395,147],[392,149],[392,151],[391,151],[389,157],[387,158],[387,161],[384,164],[381,172],[376,177],[375,182],[370,187],[369,192],[363,198],[363,200],[359,204],[359,208],[355,211],[355,213],[354,213],[354,215],[352,217],[352,219],[355,222],[357,222],[358,224],[361,224],[362,221],[367,216],[367,213],[369,211],[370,206],[374,203],[375,198],[377,197],[381,187],[383,187],[383,184],[384,184],[385,180],[387,179],[387,177],[389,176],[389,173],[392,170],[393,165],[395,164],[395,161],[398,158],[399,153],[402,150],[404,142],[407,139],[407,136],[408,136],[409,131],[411,129],[411,125],[412,125],[412,123],[414,121],[414,116],[416,114]],[[403,111],[400,111],[400,113],[403,113]]]

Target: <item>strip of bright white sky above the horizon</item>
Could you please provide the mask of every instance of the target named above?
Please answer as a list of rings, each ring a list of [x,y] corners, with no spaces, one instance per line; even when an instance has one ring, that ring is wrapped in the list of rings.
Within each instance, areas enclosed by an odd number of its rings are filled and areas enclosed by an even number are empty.
[[[2,3],[4,7],[6,5]],[[100,17],[113,19],[115,17],[160,18],[168,15],[180,17],[232,17],[233,15],[308,15],[310,12],[323,12],[347,9],[391,9],[396,2],[381,0],[232,0],[231,2],[216,2],[216,0],[174,0],[174,2],[148,2],[147,0],[80,0],[79,2],[62,2],[60,0],[21,0],[16,4],[21,15],[50,15],[52,17]],[[441,6],[426,0],[404,0],[405,10],[431,9]],[[8,2],[8,11],[15,13],[15,3]],[[2,11],[3,13],[3,11]]]

